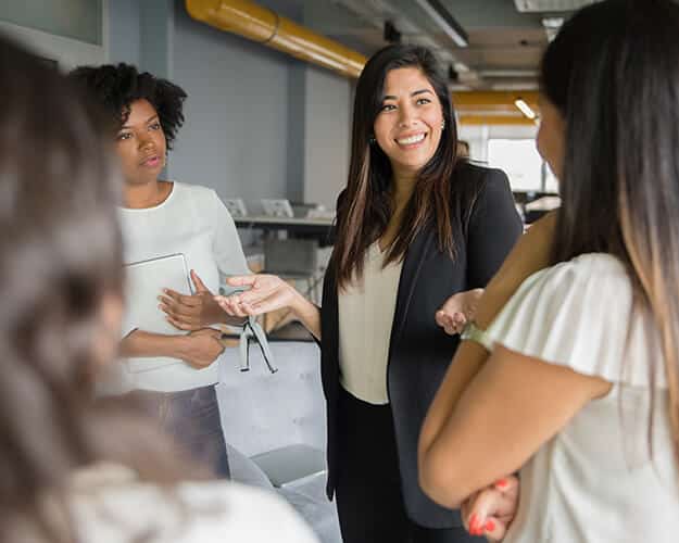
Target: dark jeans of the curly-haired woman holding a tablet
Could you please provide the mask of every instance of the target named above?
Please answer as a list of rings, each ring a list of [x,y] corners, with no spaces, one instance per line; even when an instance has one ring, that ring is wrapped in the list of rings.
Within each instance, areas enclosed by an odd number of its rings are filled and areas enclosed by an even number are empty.
[[[181,392],[138,391],[135,395],[197,464],[208,467],[219,478],[229,478],[214,386]]]

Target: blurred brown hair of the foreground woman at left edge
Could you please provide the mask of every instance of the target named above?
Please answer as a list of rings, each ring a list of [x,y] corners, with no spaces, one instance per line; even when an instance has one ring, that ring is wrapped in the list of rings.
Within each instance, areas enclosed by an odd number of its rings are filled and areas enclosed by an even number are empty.
[[[71,543],[73,470],[173,482],[178,464],[129,405],[93,401],[103,300],[123,285],[114,127],[2,37],[0,80],[0,541]]]

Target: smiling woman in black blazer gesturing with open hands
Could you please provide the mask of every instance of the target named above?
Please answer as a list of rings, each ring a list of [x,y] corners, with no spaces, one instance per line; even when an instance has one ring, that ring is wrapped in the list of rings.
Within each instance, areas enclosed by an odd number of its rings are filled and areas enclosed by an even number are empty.
[[[469,539],[417,482],[417,439],[457,346],[435,321],[482,288],[521,231],[506,176],[458,160],[450,92],[428,50],[390,46],[356,87],[337,243],[317,307],[275,276],[219,298],[235,316],[288,306],[320,341],[328,495],[345,543]]]

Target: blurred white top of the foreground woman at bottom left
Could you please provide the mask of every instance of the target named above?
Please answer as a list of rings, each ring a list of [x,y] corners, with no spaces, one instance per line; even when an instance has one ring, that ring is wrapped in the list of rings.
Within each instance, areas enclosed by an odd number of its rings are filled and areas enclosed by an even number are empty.
[[[123,466],[99,465],[74,478],[71,504],[81,541],[118,543],[318,543],[274,492],[230,481],[164,489]]]

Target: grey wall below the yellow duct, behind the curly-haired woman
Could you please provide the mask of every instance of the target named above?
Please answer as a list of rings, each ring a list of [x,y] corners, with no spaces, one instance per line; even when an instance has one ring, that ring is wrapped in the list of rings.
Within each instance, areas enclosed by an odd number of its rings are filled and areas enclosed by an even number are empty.
[[[299,0],[260,3],[303,24]],[[335,205],[347,177],[352,81],[193,21],[184,0],[104,5],[109,62],[136,64],[188,93],[168,177],[242,198],[255,213],[261,198]]]

